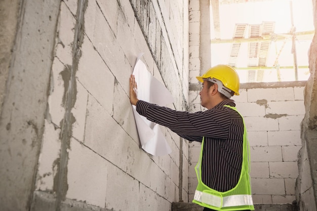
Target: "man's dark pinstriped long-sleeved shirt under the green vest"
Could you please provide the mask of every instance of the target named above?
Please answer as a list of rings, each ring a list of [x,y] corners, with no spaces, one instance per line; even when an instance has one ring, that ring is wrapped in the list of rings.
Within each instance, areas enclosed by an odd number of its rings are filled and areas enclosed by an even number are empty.
[[[189,113],[139,100],[137,112],[148,120],[168,127],[189,141],[204,140],[202,181],[208,187],[225,192],[239,181],[243,155],[243,119],[227,99],[214,108]]]

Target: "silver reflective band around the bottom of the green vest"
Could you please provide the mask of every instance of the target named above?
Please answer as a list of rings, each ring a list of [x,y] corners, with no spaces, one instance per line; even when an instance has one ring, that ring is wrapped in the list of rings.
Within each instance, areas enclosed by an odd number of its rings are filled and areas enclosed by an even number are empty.
[[[198,190],[195,191],[194,200],[219,208],[228,206],[253,205],[251,195],[231,195],[221,198],[219,196],[204,193]]]

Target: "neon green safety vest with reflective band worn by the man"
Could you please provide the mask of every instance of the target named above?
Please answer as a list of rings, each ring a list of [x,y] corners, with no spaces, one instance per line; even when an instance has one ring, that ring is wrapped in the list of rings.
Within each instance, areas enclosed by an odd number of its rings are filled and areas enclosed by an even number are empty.
[[[225,105],[232,108],[236,112],[235,107]],[[239,113],[239,112],[238,112]],[[239,113],[240,114],[240,113]],[[240,114],[241,115],[241,114]],[[241,115],[242,116],[242,115]],[[243,161],[242,170],[238,183],[234,188],[226,192],[216,191],[202,182],[202,156],[204,148],[204,138],[202,142],[202,149],[199,161],[195,166],[195,171],[198,179],[198,185],[195,191],[194,199],[192,202],[204,207],[215,210],[254,210],[252,195],[251,195],[251,179],[250,179],[250,146],[247,138],[247,129],[244,124],[243,134]]]

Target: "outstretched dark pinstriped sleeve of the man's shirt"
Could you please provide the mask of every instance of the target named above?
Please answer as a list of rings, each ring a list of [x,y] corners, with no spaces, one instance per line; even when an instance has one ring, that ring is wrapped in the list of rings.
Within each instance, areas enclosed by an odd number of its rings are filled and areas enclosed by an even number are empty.
[[[213,137],[225,139],[228,136],[230,114],[227,108],[189,113],[176,111],[139,100],[137,112],[148,120],[167,126],[173,132],[189,141],[202,141],[202,138]]]

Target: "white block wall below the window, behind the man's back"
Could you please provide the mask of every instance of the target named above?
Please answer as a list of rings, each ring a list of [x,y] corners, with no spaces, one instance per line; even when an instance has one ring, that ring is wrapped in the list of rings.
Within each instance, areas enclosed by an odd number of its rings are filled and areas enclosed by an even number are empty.
[[[244,116],[251,150],[251,185],[256,204],[292,203],[304,108],[304,82],[244,84],[232,99]],[[197,97],[199,98],[199,97]],[[198,101],[197,101],[198,104]],[[189,148],[189,199],[193,198],[201,144]]]

